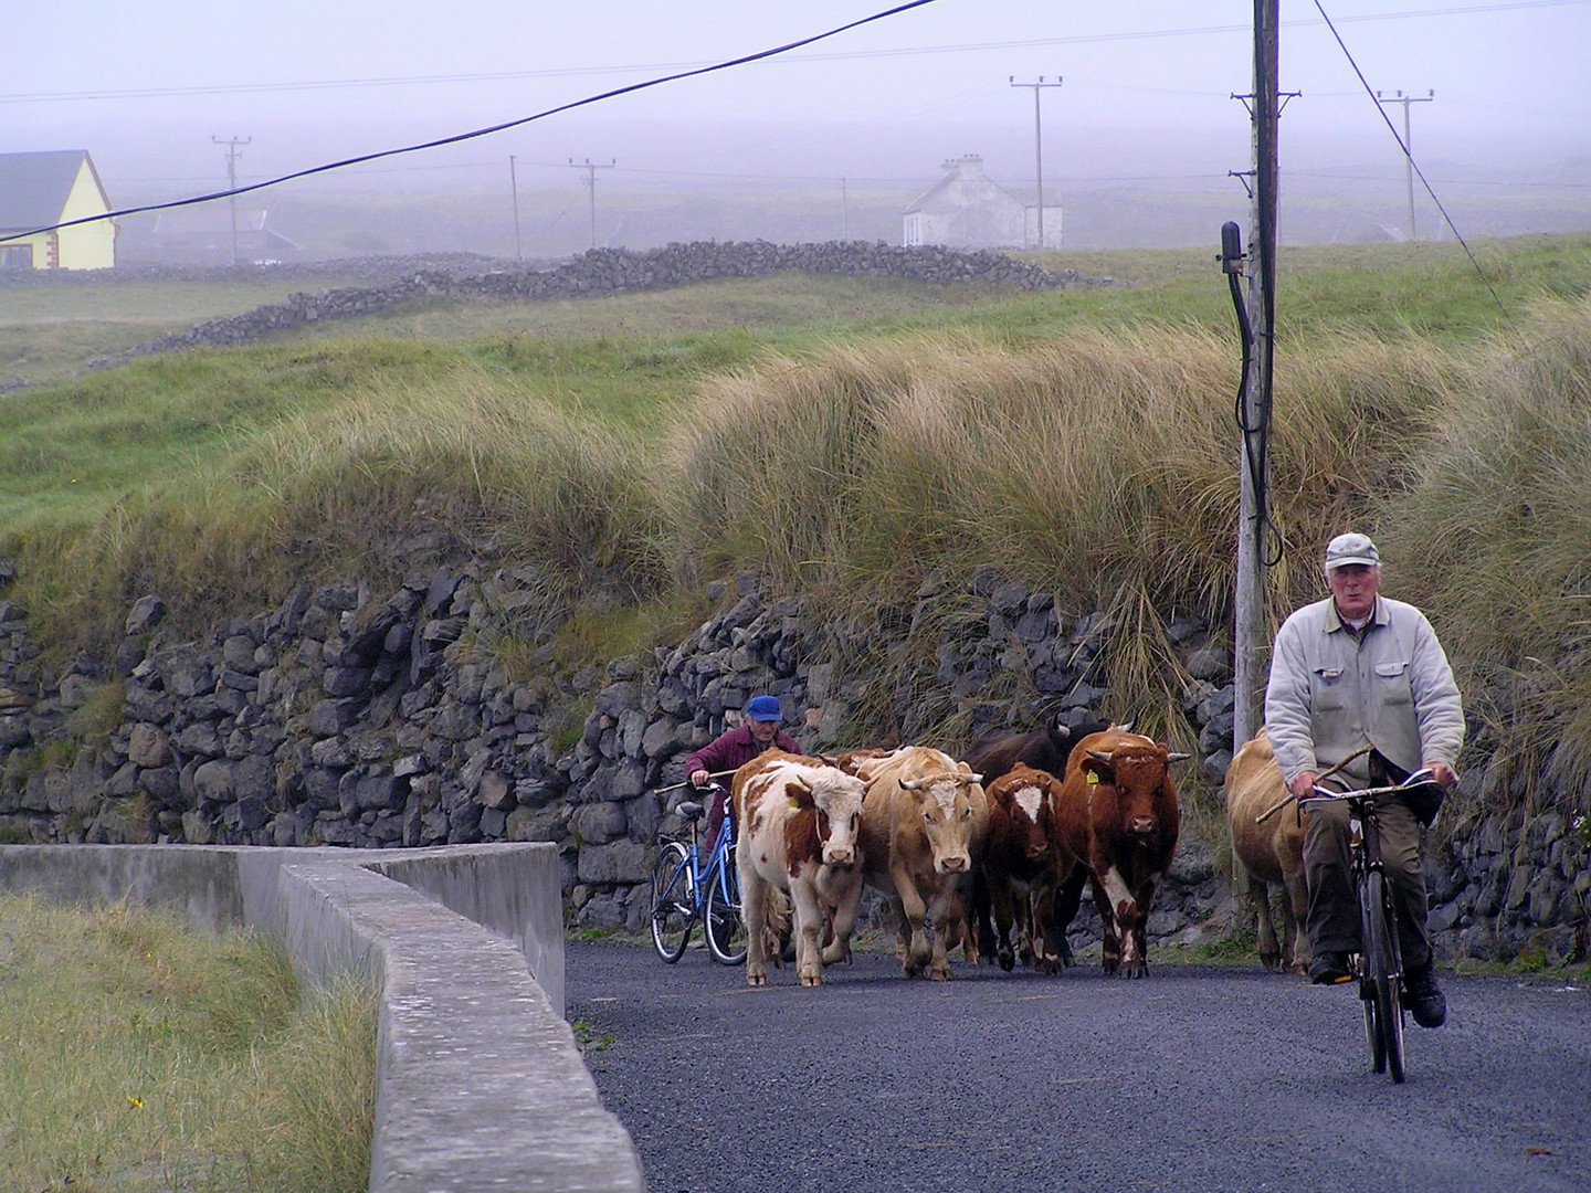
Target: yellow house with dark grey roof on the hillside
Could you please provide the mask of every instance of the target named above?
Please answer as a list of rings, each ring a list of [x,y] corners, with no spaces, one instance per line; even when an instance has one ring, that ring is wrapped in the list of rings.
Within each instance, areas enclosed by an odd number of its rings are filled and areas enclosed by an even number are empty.
[[[110,210],[86,150],[0,153],[0,269],[110,269],[113,221],[38,231]]]

